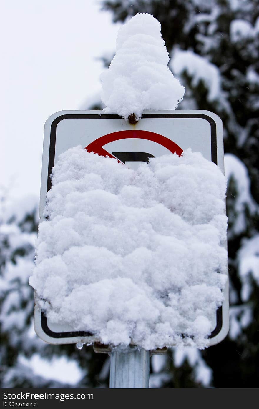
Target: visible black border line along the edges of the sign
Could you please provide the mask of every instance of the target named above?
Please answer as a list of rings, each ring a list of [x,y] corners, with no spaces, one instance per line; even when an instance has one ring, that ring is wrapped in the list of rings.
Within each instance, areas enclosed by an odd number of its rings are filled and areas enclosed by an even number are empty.
[[[205,114],[143,114],[142,118],[201,118],[205,119],[210,124],[210,136],[211,136],[211,155],[212,162],[216,165],[218,164],[217,160],[217,135],[216,135],[216,122],[214,119]],[[48,177],[47,177],[47,192],[51,189],[51,171],[54,166],[55,158],[55,148],[56,148],[56,127],[59,122],[63,119],[122,119],[119,115],[108,115],[108,114],[64,114],[55,118],[50,127],[50,151],[49,151],[49,166],[48,166]],[[46,193],[47,193],[46,192]],[[216,312],[216,327],[209,335],[209,339],[216,337],[221,331],[223,325],[223,310],[222,306],[218,308]],[[47,325],[47,317],[44,315],[44,312],[41,311],[41,328],[43,332],[52,338],[71,338],[71,337],[90,337],[93,334],[85,331],[70,331],[70,332],[61,332],[56,333],[52,331]]]

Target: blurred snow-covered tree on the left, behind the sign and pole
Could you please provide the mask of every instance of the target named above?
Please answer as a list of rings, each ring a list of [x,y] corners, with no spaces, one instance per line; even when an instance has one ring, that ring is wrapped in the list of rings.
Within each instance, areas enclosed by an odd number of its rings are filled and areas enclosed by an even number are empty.
[[[0,201],[0,386],[2,388],[71,388],[69,383],[34,373],[30,358],[41,356],[74,360],[82,369],[81,380],[73,387],[107,386],[106,356],[92,347],[79,351],[74,344],[49,345],[34,332],[34,291],[28,279],[34,267],[38,230],[38,200],[25,197]]]

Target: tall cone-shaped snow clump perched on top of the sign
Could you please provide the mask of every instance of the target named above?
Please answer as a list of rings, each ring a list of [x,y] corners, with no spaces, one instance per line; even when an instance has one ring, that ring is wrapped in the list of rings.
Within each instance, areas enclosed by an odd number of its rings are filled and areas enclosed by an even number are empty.
[[[168,62],[159,21],[136,14],[119,29],[115,57],[101,75],[106,112],[125,119],[135,113],[138,119],[145,109],[175,109],[185,89]]]

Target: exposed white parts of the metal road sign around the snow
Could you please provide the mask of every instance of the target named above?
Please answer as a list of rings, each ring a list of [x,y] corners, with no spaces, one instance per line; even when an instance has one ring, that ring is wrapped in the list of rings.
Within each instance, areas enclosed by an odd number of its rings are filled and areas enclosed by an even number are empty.
[[[205,159],[217,164],[224,172],[223,134],[221,119],[209,111],[145,111],[136,125],[118,115],[103,111],[61,111],[47,119],[44,131],[41,177],[40,221],[46,193],[51,188],[50,174],[58,156],[69,148],[81,145],[89,152],[115,157],[134,168],[149,157],[169,153],[180,155],[191,148]],[[226,246],[226,244],[225,244]],[[226,260],[227,274],[227,260]],[[218,308],[209,344],[214,345],[227,335],[229,328],[228,285],[223,306]],[[35,330],[51,344],[92,343],[98,341],[84,331],[75,331],[65,322],[50,322],[38,306],[36,295]]]

